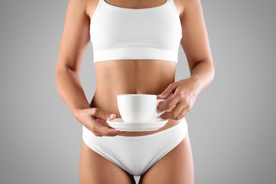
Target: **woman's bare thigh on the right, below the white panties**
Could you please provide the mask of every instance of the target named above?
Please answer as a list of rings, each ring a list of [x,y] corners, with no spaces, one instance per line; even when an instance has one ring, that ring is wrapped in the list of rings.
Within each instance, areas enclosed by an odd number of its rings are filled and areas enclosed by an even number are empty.
[[[188,134],[178,146],[163,156],[140,178],[140,183],[194,183],[192,149]]]

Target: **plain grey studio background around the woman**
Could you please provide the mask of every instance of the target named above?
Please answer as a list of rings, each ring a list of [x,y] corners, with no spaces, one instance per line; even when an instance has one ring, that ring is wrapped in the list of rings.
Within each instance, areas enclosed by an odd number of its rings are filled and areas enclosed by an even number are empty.
[[[0,1],[0,183],[78,183],[81,125],[54,68],[67,1]],[[276,1],[202,0],[216,69],[186,117],[195,183],[275,183]],[[92,47],[81,80],[91,100]],[[180,51],[177,79],[189,76]]]

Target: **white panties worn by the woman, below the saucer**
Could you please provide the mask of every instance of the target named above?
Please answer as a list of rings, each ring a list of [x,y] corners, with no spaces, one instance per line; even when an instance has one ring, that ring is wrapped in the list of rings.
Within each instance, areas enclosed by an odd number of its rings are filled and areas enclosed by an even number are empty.
[[[83,127],[83,139],[88,147],[115,163],[133,176],[141,176],[163,156],[175,148],[188,132],[185,118],[171,128],[137,137],[96,137]]]

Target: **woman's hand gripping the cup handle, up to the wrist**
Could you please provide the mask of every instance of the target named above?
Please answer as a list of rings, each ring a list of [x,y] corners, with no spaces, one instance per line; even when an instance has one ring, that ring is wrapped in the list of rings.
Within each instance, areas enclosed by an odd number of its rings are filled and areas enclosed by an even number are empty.
[[[200,85],[192,77],[170,84],[158,98],[166,99],[166,102],[159,103],[158,110],[167,110],[161,115],[163,119],[181,120],[191,110],[195,103]]]

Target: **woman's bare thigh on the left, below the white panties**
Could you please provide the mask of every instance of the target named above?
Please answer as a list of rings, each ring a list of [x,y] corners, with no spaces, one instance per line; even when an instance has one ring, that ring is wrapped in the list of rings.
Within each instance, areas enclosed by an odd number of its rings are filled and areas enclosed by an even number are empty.
[[[81,145],[79,183],[135,183],[133,176],[90,149],[84,141]]]

